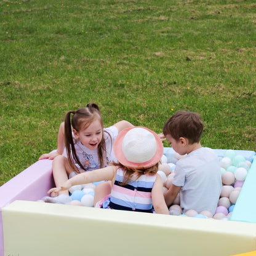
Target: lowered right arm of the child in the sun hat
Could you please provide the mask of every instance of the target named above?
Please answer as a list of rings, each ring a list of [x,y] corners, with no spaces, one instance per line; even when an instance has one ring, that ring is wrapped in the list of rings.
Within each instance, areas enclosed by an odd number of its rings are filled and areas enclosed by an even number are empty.
[[[162,193],[162,178],[159,174],[156,174],[156,181],[151,191],[152,202],[156,214],[167,214],[169,215],[169,210],[164,201],[164,194]]]

